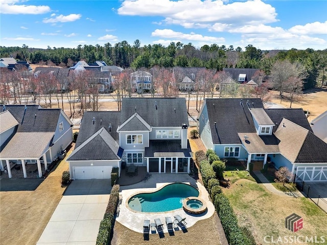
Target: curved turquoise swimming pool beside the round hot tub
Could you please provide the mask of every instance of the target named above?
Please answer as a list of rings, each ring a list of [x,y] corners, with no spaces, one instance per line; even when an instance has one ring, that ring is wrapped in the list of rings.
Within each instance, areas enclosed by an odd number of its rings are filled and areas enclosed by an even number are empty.
[[[155,192],[134,195],[128,206],[138,212],[167,212],[181,208],[185,198],[198,196],[199,191],[191,185],[173,183]]]

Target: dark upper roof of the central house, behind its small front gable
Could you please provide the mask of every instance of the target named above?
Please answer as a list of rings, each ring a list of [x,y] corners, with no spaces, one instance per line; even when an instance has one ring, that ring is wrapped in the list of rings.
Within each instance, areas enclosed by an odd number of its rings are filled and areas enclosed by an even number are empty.
[[[185,98],[123,98],[121,124],[135,112],[151,127],[189,125]]]

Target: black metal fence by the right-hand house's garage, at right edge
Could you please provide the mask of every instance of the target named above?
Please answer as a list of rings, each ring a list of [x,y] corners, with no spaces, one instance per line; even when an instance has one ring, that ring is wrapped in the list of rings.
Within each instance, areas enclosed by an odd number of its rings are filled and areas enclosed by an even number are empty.
[[[318,191],[314,187],[310,186],[297,176],[294,178],[294,183],[301,192],[305,193],[311,201],[327,213],[327,201],[318,194]]]

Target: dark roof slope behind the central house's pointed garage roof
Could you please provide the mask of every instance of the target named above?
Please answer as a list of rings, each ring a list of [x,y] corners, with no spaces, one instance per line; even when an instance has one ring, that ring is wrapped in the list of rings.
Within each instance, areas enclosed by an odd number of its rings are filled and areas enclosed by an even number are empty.
[[[116,130],[120,124],[120,117],[121,112],[119,111],[84,112],[75,147],[77,148],[101,128],[105,128],[115,141],[119,141],[119,133]],[[94,124],[93,118],[95,118]]]

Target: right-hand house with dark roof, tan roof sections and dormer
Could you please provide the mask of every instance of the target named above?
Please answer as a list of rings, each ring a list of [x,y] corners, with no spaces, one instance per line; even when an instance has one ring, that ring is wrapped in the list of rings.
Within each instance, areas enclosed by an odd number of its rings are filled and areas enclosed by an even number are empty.
[[[327,181],[327,144],[313,134],[302,109],[265,109],[260,99],[206,99],[200,137],[221,159],[267,159],[305,181]]]

